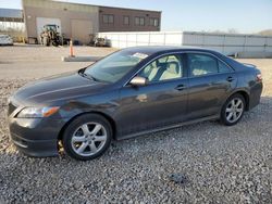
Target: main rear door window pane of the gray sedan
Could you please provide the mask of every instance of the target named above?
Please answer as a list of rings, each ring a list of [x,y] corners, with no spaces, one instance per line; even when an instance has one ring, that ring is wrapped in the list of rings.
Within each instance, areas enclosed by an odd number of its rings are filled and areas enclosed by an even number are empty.
[[[218,73],[218,61],[206,54],[188,54],[190,76]]]

